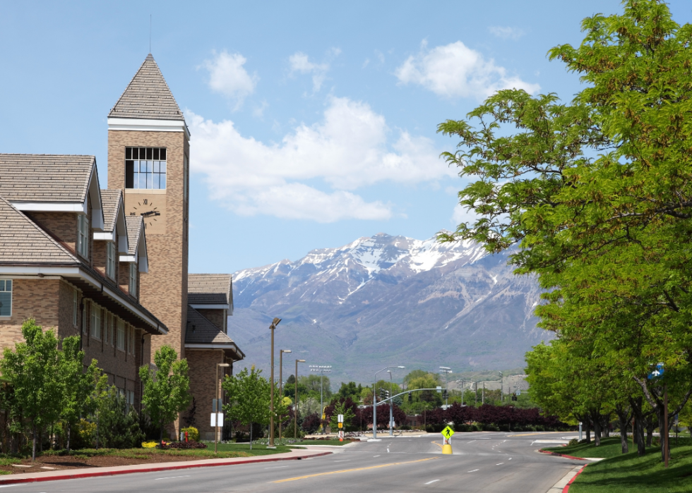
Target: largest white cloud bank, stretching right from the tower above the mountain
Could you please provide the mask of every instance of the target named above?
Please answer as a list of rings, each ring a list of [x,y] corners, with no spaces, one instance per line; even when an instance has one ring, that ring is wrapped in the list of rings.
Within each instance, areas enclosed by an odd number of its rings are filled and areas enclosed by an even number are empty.
[[[300,124],[272,144],[244,137],[232,121],[215,123],[189,111],[186,119],[192,170],[205,175],[213,200],[237,214],[388,219],[392,205],[366,202],[353,190],[455,176],[430,139],[400,131],[389,144],[385,118],[347,98],[330,99],[322,121]]]

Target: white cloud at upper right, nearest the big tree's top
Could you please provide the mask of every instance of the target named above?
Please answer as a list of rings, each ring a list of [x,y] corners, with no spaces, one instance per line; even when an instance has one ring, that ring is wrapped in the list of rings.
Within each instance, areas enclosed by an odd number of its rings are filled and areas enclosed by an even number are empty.
[[[444,97],[476,97],[483,99],[501,89],[523,89],[531,94],[540,90],[538,84],[527,83],[507,75],[506,68],[486,60],[478,51],[463,42],[421,51],[396,69],[395,75],[403,84],[419,84]]]

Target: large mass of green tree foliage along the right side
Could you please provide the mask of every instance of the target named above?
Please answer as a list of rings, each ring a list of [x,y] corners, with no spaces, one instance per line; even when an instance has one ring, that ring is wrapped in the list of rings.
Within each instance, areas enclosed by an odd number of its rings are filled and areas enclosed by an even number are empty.
[[[440,238],[520,246],[511,262],[538,276],[540,326],[560,339],[527,356],[532,397],[595,430],[631,410],[643,454],[641,399],[662,422],[663,383],[669,418],[692,393],[692,26],[623,3],[549,52],[586,83],[571,103],[503,90],[439,126],[461,140],[443,155],[472,177],[459,197],[477,217]],[[664,382],[647,377],[658,362]]]

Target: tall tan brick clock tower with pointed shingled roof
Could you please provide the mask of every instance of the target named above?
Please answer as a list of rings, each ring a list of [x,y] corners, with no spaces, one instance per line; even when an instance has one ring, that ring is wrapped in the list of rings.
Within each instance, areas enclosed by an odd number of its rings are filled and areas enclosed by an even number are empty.
[[[108,187],[123,190],[125,214],[145,224],[148,272],[140,302],[168,327],[167,344],[185,358],[188,287],[189,138],[185,119],[149,54],[108,114]]]

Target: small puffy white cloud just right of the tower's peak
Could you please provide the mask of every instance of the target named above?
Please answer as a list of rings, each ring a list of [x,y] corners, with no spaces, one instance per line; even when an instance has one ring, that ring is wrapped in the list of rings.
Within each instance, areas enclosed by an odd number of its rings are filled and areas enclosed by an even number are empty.
[[[222,95],[237,100],[251,95],[259,79],[256,74],[250,75],[244,68],[247,59],[239,53],[229,54],[227,51],[214,53],[213,60],[205,60],[204,68],[209,71],[209,87]]]

